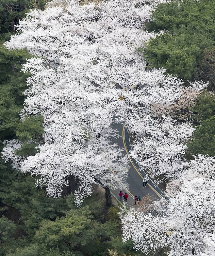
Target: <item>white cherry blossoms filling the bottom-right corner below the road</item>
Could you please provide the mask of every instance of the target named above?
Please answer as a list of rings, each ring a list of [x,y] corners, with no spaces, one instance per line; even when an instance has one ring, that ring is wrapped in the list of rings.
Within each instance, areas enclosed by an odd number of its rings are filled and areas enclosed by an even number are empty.
[[[169,204],[158,200],[147,214],[141,208],[123,209],[124,241],[133,240],[135,247],[146,255],[159,248],[165,248],[169,256],[212,255],[214,166],[215,157],[196,156],[189,168],[167,186]]]

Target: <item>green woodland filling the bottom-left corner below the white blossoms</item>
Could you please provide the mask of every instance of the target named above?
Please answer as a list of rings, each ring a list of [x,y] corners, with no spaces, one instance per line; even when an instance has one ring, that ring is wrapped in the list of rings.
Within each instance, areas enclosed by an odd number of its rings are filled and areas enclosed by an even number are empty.
[[[8,209],[0,218],[0,255],[107,256],[109,250],[142,255],[131,242],[123,244],[118,207],[105,211],[105,195],[100,191],[76,208],[73,195],[46,198],[31,177],[11,177],[11,173],[1,177],[5,184],[0,197]]]

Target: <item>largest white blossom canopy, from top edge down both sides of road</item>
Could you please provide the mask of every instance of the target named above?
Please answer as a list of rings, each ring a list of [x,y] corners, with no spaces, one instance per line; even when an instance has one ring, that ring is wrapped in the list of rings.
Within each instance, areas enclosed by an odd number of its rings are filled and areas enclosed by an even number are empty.
[[[34,156],[16,160],[15,167],[39,176],[48,195],[59,196],[69,175],[80,180],[77,204],[92,184],[117,188],[125,182],[127,161],[112,142],[114,121],[126,122],[138,134],[132,156],[149,176],[171,177],[183,168],[183,143],[193,129],[173,117],[155,116],[153,108],[174,104],[185,91],[205,85],[185,89],[165,70],[147,70],[138,48],[156,36],[144,29],[156,2],[51,1],[44,11],[28,13],[6,43],[8,49],[26,48],[37,56],[23,67],[31,76],[22,115],[44,117],[44,143]],[[5,148],[6,160],[15,159],[12,144],[17,141]]]

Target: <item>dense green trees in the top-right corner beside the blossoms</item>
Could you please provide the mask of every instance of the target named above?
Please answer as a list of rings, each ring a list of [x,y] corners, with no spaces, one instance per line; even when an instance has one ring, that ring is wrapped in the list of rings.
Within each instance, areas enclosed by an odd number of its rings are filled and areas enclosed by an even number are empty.
[[[206,57],[214,51],[214,8],[214,0],[177,0],[159,4],[147,28],[164,32],[146,44],[143,49],[146,60],[180,78],[192,79],[198,74],[200,80],[205,80],[205,73],[199,69],[204,66],[208,73],[214,70],[214,59],[207,61]],[[212,80],[210,75],[207,78]]]

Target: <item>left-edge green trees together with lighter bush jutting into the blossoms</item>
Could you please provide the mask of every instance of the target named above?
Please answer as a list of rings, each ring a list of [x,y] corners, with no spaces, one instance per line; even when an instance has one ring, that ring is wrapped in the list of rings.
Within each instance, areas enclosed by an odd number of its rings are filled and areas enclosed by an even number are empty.
[[[4,35],[8,39],[10,35]],[[0,45],[0,140],[17,138],[25,142],[15,153],[27,156],[37,152],[42,141],[43,117],[30,116],[20,121],[23,108],[23,91],[27,88],[25,80],[29,76],[21,72],[22,64],[30,58],[26,50],[8,50]],[[33,141],[32,141],[33,140]]]

